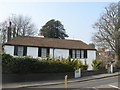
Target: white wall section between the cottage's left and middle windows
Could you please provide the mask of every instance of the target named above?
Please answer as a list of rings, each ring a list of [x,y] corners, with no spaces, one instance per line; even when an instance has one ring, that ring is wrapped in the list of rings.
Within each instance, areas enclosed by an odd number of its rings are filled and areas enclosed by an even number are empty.
[[[27,56],[32,56],[34,58],[38,57],[38,48],[37,47],[27,47]]]

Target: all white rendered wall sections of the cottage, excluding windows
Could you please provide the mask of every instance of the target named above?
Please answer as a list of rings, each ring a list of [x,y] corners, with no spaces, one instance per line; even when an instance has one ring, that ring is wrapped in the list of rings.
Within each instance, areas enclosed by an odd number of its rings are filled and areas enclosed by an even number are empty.
[[[7,54],[14,56],[14,46],[5,45],[4,50]],[[50,48],[50,57],[55,58],[68,58],[69,56],[69,49],[53,49]],[[27,56],[32,56],[34,58],[38,57],[38,47],[27,47]],[[87,64],[89,65],[88,70],[92,70],[92,60],[96,59],[96,51],[95,50],[87,50]],[[83,64],[85,59],[80,59]]]

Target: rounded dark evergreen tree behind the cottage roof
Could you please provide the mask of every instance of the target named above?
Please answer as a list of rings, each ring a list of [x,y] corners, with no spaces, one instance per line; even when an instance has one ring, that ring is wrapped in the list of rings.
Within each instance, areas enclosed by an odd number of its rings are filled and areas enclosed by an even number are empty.
[[[40,29],[40,32],[43,33],[44,37],[48,38],[65,39],[65,37],[68,37],[61,22],[58,20],[55,21],[54,19],[48,21],[42,29]]]

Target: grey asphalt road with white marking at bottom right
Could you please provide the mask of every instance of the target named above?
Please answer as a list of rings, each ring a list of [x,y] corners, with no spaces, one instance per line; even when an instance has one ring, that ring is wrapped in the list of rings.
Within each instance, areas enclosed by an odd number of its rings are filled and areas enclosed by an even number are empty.
[[[68,88],[92,88],[93,90],[101,90],[100,88],[111,88],[111,90],[120,90],[120,83],[118,83],[118,76],[84,81],[84,82],[74,82],[68,83]],[[36,86],[27,88],[64,88],[64,84],[59,85],[49,85],[49,86]],[[109,89],[110,90],[110,89]]]

